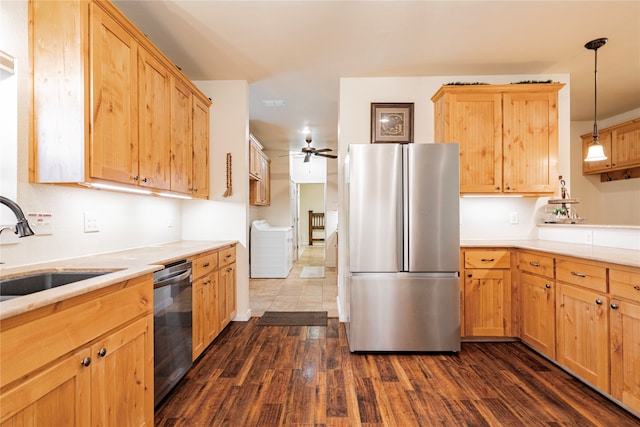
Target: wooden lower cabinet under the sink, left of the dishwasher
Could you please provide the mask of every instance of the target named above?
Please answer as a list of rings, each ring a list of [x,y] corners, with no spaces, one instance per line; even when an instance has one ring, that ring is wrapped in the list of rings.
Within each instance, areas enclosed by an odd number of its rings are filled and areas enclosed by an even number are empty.
[[[153,425],[152,303],[146,275],[5,319],[0,424]]]

